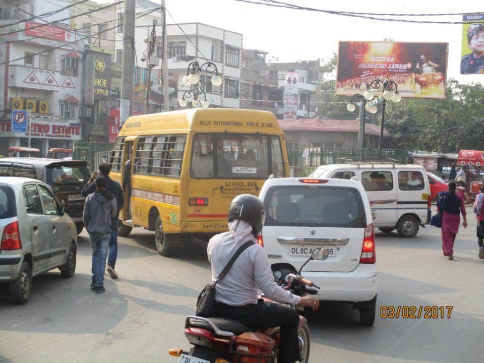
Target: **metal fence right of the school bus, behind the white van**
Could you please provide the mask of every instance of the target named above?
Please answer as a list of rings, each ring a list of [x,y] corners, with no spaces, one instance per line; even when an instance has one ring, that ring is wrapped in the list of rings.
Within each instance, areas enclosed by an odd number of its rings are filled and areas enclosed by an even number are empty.
[[[394,162],[406,164],[408,154],[399,149],[324,149],[287,150],[291,175],[306,176],[320,165],[352,162]]]

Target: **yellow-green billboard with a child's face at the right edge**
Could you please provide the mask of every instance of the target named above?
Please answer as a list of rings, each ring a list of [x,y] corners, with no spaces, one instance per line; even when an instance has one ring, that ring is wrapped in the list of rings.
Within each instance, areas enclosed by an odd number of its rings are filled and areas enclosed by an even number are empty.
[[[484,74],[484,13],[462,16],[460,74]]]

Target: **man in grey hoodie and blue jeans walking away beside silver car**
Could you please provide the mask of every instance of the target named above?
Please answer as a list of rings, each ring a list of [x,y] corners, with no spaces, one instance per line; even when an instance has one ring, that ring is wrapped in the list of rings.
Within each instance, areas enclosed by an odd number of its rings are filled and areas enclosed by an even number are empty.
[[[106,268],[107,247],[111,237],[111,219],[117,214],[114,196],[106,191],[107,179],[96,179],[96,191],[87,196],[84,204],[84,225],[91,238],[92,283],[91,289],[100,293],[104,289],[104,270]]]

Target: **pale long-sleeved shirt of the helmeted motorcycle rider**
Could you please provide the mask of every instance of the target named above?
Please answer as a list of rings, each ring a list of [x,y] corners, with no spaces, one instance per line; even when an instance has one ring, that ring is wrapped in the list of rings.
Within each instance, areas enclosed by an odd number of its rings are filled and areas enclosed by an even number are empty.
[[[277,302],[299,304],[301,298],[284,290],[274,282],[271,264],[264,249],[257,244],[254,235],[237,233],[235,221],[229,223],[231,231],[213,236],[207,248],[208,260],[212,264],[212,282],[214,282],[237,249],[248,240],[254,245],[245,250],[234,262],[232,268],[215,287],[215,299],[231,306],[257,304],[258,288],[268,298]],[[235,222],[236,223],[236,222]],[[248,223],[240,221],[239,230],[247,229]]]

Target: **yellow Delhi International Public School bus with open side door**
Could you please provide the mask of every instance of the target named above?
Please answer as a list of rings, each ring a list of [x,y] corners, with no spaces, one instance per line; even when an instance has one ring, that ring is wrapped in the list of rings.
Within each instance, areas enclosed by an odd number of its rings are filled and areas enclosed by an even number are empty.
[[[271,174],[289,176],[279,123],[273,113],[258,110],[195,108],[132,116],[111,151],[112,179],[122,183],[130,158],[131,206],[128,211],[126,203],[120,213],[119,235],[133,226],[155,231],[162,256],[190,236],[208,240],[226,231],[235,196],[259,195]]]

